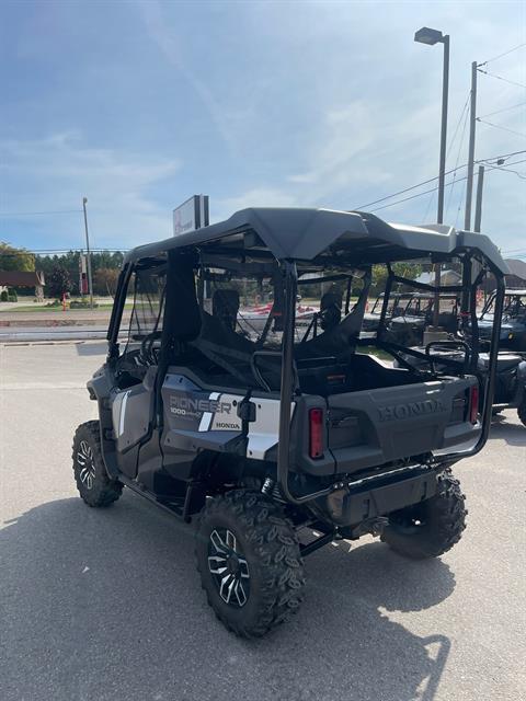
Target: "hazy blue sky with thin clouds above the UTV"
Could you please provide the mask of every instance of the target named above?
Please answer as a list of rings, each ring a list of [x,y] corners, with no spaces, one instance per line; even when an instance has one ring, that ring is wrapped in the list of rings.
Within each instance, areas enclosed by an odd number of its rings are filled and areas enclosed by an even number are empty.
[[[451,36],[451,142],[471,61],[526,42],[525,8],[2,0],[0,240],[81,246],[83,195],[93,246],[127,249],[170,235],[173,206],[194,193],[218,220],[245,206],[351,209],[434,177],[442,46],[414,31]],[[526,84],[526,47],[487,69]],[[480,116],[524,102],[524,88],[480,76]],[[476,158],[526,150],[524,105],[487,120],[517,134],[480,124]],[[462,125],[448,168],[467,160]],[[487,171],[482,228],[526,255],[526,162],[510,165],[524,159],[505,164],[523,177]],[[446,192],[453,225],[462,189]],[[62,210],[77,211],[20,214]],[[377,211],[413,223],[435,212],[436,194]]]

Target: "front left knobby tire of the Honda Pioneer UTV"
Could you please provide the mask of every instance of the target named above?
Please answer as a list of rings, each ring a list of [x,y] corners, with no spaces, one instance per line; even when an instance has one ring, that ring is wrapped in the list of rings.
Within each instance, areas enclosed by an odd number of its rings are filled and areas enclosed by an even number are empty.
[[[98,421],[88,421],[77,428],[72,458],[77,489],[88,506],[110,506],[118,499],[123,485],[107,476]]]

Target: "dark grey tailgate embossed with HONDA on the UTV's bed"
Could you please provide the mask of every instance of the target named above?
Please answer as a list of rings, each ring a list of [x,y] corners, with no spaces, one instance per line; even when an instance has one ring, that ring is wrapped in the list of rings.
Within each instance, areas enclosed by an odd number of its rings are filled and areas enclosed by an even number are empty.
[[[412,458],[476,439],[469,388],[477,380],[447,378],[328,398],[328,443],[336,472]]]

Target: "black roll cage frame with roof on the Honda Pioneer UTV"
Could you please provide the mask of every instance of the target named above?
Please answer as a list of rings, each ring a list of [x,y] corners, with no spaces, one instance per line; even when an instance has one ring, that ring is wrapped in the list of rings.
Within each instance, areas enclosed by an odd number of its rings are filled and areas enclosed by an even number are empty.
[[[336,212],[332,210],[306,209],[250,209],[237,212],[226,222],[219,222],[188,234],[169,239],[156,244],[139,246],[132,251],[124,263],[119,276],[115,304],[112,311],[107,340],[107,363],[115,364],[118,358],[118,333],[126,300],[127,287],[134,271],[140,265],[156,265],[157,256],[168,254],[168,283],[164,303],[164,325],[161,333],[161,349],[157,384],[162,382],[169,365],[169,355],[188,338],[195,337],[199,300],[204,297],[206,275],[214,269],[235,274],[250,272],[255,277],[271,276],[281,290],[278,300],[281,344],[274,350],[279,368],[279,432],[277,448],[277,483],[284,497],[291,504],[302,504],[327,495],[333,486],[295,496],[289,489],[290,418],[291,403],[297,387],[297,358],[295,356],[296,306],[298,288],[304,284],[301,276],[316,275],[328,268],[359,271],[367,276],[370,266],[384,263],[388,276],[376,337],[361,340],[358,331],[353,336],[356,347],[376,346],[408,366],[403,354],[424,358],[430,369],[424,372],[428,378],[437,377],[433,364],[432,348],[425,353],[404,348],[385,338],[386,317],[389,299],[396,284],[409,285],[428,294],[454,294],[461,296],[462,326],[471,329],[471,347],[467,336],[460,334],[454,344],[466,349],[466,363],[459,367],[457,361],[449,366],[454,372],[470,372],[479,377],[482,389],[482,430],[477,444],[464,452],[441,456],[441,464],[450,464],[460,458],[476,455],[484,445],[491,420],[491,400],[494,387],[496,356],[499,346],[500,319],[504,299],[504,274],[507,272],[494,245],[482,234],[457,232],[447,227],[402,227],[388,225],[380,219],[363,212]],[[391,263],[396,261],[422,260],[430,264],[457,257],[461,262],[462,284],[441,286],[416,283],[397,276]],[[474,271],[480,272],[474,272]],[[208,271],[208,273],[205,273]],[[491,274],[496,281],[494,297],[495,324],[493,325],[489,371],[481,377],[478,372],[478,317],[477,288],[484,277]],[[195,283],[197,285],[195,286]],[[362,301],[362,315],[365,300]],[[350,311],[350,296],[346,310]],[[274,302],[276,306],[277,299]],[[176,321],[178,313],[184,310],[184,319]],[[359,310],[358,310],[359,311]],[[192,314],[194,317],[192,318]],[[444,345],[444,344],[442,344]],[[256,349],[260,353],[261,349]],[[441,359],[444,365],[444,360]],[[448,365],[448,363],[446,363]],[[247,400],[251,390],[247,390]],[[158,421],[162,413],[157,412]],[[248,418],[247,418],[248,421]]]

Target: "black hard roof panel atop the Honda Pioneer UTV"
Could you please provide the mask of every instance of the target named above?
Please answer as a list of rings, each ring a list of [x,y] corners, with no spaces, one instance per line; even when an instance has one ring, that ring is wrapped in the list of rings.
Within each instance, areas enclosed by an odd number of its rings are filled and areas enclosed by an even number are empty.
[[[430,253],[449,255],[478,249],[496,268],[507,266],[496,246],[480,233],[433,225],[412,227],[387,223],[374,215],[333,209],[258,207],[241,209],[226,221],[133,249],[126,262],[178,248],[204,246],[237,240],[238,248],[267,249],[276,258],[312,261],[330,250],[353,263],[381,263]],[[343,262],[343,260],[342,260]]]

